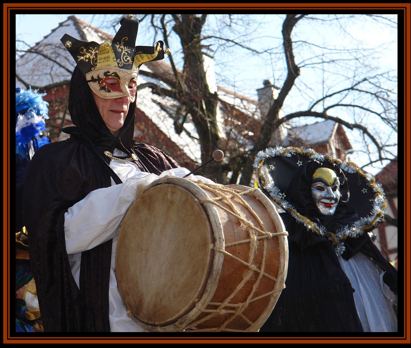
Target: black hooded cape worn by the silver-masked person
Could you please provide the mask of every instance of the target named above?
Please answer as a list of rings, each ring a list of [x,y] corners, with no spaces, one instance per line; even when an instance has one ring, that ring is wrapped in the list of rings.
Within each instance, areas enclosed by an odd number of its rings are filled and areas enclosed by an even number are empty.
[[[320,164],[312,161],[293,176],[287,197],[303,216],[327,231],[353,224],[356,209],[349,205],[349,188],[338,167],[329,165],[340,177],[341,200],[334,215],[322,216],[311,196],[311,178]],[[324,164],[323,164],[324,165]],[[288,231],[289,262],[283,289],[260,332],[363,332],[351,283],[341,268],[331,242],[307,230],[288,212],[280,215]],[[366,231],[345,240],[342,257],[348,260],[360,250],[387,271],[384,281],[397,293],[397,270],[383,257]]]

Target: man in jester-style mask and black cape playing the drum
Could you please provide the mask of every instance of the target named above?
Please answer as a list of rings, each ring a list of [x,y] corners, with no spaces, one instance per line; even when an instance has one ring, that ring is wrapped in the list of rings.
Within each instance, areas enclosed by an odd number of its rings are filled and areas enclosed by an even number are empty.
[[[120,24],[111,44],[63,36],[77,63],[68,102],[76,127],[63,129],[69,139],[41,147],[27,171],[23,219],[45,332],[143,331],[117,286],[119,225],[140,184],[189,173],[133,140],[138,71],[163,59],[164,47],[135,47],[138,22]]]

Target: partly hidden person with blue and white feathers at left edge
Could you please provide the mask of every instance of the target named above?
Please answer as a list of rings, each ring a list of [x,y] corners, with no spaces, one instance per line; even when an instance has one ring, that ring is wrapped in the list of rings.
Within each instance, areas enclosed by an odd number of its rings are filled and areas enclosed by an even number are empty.
[[[15,265],[16,332],[42,332],[39,303],[30,268],[26,228],[22,221],[23,184],[33,154],[48,144],[46,93],[16,88]],[[35,183],[33,183],[35,184]]]

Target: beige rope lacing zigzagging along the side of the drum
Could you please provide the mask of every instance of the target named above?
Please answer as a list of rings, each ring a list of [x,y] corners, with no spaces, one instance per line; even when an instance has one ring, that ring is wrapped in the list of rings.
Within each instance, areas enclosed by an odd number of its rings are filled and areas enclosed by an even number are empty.
[[[200,186],[200,188],[202,189],[206,189],[207,191],[212,192],[215,196],[215,198],[210,198],[210,199],[206,199],[206,200],[201,200],[200,203],[201,204],[206,204],[206,203],[211,203],[214,204],[216,207],[218,207],[219,209],[226,211],[228,214],[234,216],[235,218],[237,218],[242,224],[244,224],[244,226],[247,227],[248,233],[250,238],[247,240],[242,240],[242,241],[238,241],[238,242],[233,242],[233,243],[229,243],[226,244],[226,246],[232,246],[232,245],[236,245],[236,244],[240,244],[240,243],[250,243],[250,252],[249,252],[249,260],[248,261],[244,261],[241,260],[237,257],[235,257],[234,255],[230,254],[227,252],[227,250],[225,250],[224,248],[220,248],[220,247],[216,247],[214,246],[214,250],[216,250],[216,252],[218,253],[222,253],[223,255],[226,255],[228,257],[231,257],[233,259],[235,259],[236,261],[244,264],[245,266],[248,267],[248,269],[246,270],[246,272],[244,273],[243,279],[242,281],[237,285],[237,287],[234,289],[234,291],[231,293],[231,295],[229,295],[225,301],[223,301],[222,303],[215,303],[215,302],[210,302],[207,304],[208,305],[215,305],[217,306],[217,308],[215,310],[210,310],[210,309],[206,309],[206,308],[200,308],[198,306],[198,303],[196,304],[196,308],[198,311],[202,312],[202,313],[208,313],[207,316],[193,321],[191,322],[188,326],[186,326],[184,328],[184,330],[190,330],[191,332],[219,332],[219,331],[230,331],[230,332],[244,332],[246,330],[234,330],[231,328],[227,328],[227,325],[230,324],[231,321],[233,321],[234,319],[236,319],[237,317],[241,317],[242,319],[244,319],[250,326],[253,324],[253,322],[247,318],[244,315],[244,311],[246,310],[246,308],[248,307],[248,305],[256,300],[259,300],[263,297],[267,297],[270,296],[274,293],[279,293],[282,291],[281,289],[274,289],[273,291],[266,293],[264,295],[258,296],[258,297],[253,297],[256,289],[258,288],[258,285],[260,283],[260,280],[263,277],[267,277],[273,281],[276,281],[277,279],[275,277],[272,277],[271,275],[265,273],[265,260],[266,260],[266,256],[267,256],[267,243],[266,243],[266,239],[267,238],[272,238],[274,236],[287,236],[287,232],[286,231],[282,231],[282,232],[278,232],[278,233],[271,233],[269,231],[267,231],[264,227],[264,223],[260,220],[260,218],[257,216],[256,212],[251,208],[251,206],[246,202],[246,200],[244,198],[242,198],[241,196],[245,196],[245,195],[253,195],[253,193],[255,191],[257,191],[257,188],[250,188],[249,190],[236,190],[233,188],[229,188],[227,186],[224,185],[218,185],[218,184],[207,184],[207,183],[203,183],[202,181],[195,181],[195,183]],[[237,199],[237,201],[239,201],[242,205],[244,205],[253,215],[253,217],[256,219],[256,221],[258,222],[258,224],[263,228],[257,228],[253,223],[251,223],[250,221],[248,221],[247,219],[245,219],[244,217],[241,216],[240,212],[238,211],[238,209],[235,207],[234,203],[232,202],[232,199],[235,198]],[[224,201],[226,202],[230,209],[222,206],[221,204],[218,203],[218,201]],[[259,234],[259,235],[258,235]],[[254,261],[254,256],[256,253],[256,249],[257,249],[257,244],[258,241],[263,241],[263,262],[261,262],[261,269],[258,269],[257,266],[255,266],[253,264]],[[254,282],[254,285],[252,287],[252,291],[250,292],[250,295],[247,297],[246,301],[243,303],[230,303],[231,299],[240,291],[240,289],[244,286],[244,284],[246,284],[251,277],[253,277],[253,275],[255,273],[258,273],[258,277],[256,279],[256,281]],[[234,309],[228,309],[228,308],[234,308]],[[219,328],[202,328],[202,329],[196,329],[195,327],[197,325],[199,325],[202,322],[208,321],[210,319],[212,319],[213,317],[216,316],[220,316],[221,314],[231,314],[233,313],[233,315],[227,319]],[[161,330],[161,328],[159,328]]]

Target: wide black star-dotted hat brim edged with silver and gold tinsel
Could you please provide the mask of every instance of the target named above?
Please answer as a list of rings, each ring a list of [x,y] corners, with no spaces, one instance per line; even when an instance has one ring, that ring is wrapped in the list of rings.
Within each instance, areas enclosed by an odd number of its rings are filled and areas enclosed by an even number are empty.
[[[350,203],[353,202],[360,217],[353,225],[347,225],[335,233],[330,233],[324,226],[320,226],[299,214],[287,201],[285,190],[291,181],[293,171],[310,160],[331,162],[338,165],[344,172],[351,187]],[[332,158],[328,153],[317,153],[311,148],[277,146],[259,151],[253,166],[258,176],[258,185],[266,195],[289,212],[294,219],[303,223],[308,230],[329,239],[334,245],[337,255],[344,253],[344,240],[347,237],[358,238],[362,236],[364,231],[378,226],[384,218],[387,201],[381,184],[353,162],[343,162]],[[279,171],[282,176],[278,175]]]

